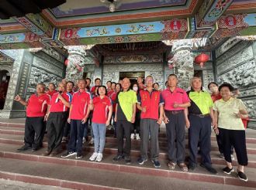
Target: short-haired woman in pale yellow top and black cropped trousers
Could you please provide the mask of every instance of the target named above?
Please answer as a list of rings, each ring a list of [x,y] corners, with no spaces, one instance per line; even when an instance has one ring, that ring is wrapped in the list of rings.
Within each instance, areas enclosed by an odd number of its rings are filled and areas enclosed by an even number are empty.
[[[247,117],[247,110],[242,100],[232,97],[234,87],[230,83],[223,83],[219,87],[221,99],[216,100],[213,106],[214,117],[217,120],[218,129],[216,133],[220,135],[223,142],[223,154],[227,162],[227,167],[223,172],[231,174],[234,171],[230,157],[231,146],[237,154],[237,173],[238,178],[247,182],[247,176],[244,174],[244,166],[248,164],[246,140],[243,118]]]

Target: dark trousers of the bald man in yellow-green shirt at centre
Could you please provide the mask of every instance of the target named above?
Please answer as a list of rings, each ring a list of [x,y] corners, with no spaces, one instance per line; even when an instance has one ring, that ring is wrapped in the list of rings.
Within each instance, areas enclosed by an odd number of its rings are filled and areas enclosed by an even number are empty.
[[[117,120],[116,122],[116,135],[117,135],[117,144],[118,144],[118,154],[130,156],[130,131],[133,127],[133,124],[127,120]],[[126,137],[126,145],[123,148],[123,137]]]

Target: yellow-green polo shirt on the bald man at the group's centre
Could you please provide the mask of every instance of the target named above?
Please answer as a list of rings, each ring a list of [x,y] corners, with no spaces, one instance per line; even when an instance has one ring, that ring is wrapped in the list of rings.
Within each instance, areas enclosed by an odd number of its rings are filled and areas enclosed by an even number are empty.
[[[121,110],[117,109],[117,111],[123,111],[126,120],[131,121],[133,117],[133,104],[137,103],[136,92],[133,90],[127,90],[126,92],[120,91],[116,103],[121,107]],[[119,116],[119,113],[117,115]],[[117,119],[119,120],[119,118]]]

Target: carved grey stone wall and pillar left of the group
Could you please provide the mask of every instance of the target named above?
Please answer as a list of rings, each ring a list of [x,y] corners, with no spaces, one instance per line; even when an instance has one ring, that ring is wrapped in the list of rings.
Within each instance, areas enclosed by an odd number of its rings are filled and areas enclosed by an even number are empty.
[[[16,94],[27,99],[36,91],[36,83],[57,83],[64,76],[64,57],[53,51],[30,52],[29,49],[2,50],[14,60],[5,107],[0,117],[25,117],[25,107],[14,101]]]

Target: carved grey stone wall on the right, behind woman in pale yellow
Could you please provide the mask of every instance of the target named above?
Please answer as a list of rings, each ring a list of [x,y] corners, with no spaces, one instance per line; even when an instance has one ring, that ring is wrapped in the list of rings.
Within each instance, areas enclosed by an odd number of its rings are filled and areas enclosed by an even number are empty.
[[[240,90],[251,121],[256,128],[256,42],[228,39],[216,49],[218,83],[231,83]]]

